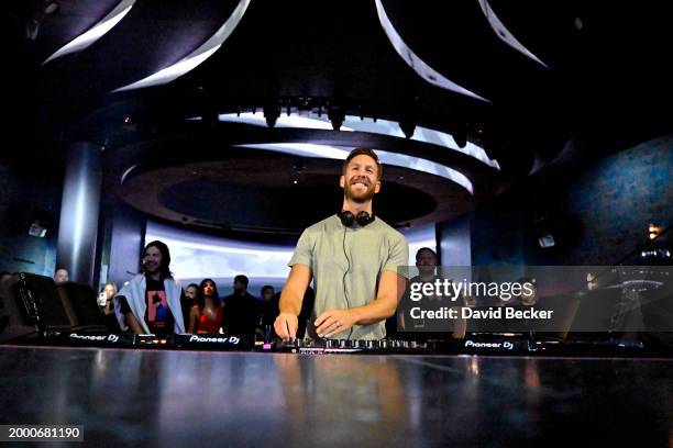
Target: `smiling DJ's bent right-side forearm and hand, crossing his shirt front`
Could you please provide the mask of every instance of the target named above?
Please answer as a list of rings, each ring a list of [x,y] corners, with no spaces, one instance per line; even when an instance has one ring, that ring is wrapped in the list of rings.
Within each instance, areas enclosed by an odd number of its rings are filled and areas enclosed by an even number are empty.
[[[320,337],[330,337],[350,329],[353,325],[371,325],[395,314],[397,303],[405,292],[407,279],[390,270],[384,270],[378,279],[378,294],[366,305],[347,310],[328,310],[316,320]]]

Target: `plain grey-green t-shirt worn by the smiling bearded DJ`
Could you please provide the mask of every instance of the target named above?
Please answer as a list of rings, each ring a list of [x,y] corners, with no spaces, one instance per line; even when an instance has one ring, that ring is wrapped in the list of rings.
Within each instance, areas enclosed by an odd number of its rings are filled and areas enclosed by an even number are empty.
[[[408,264],[407,240],[379,217],[365,227],[345,227],[339,216],[332,215],[308,227],[299,237],[288,264],[290,267],[306,265],[313,273],[316,306],[307,327],[308,335],[317,337],[313,321],[322,312],[374,301],[382,271],[397,272],[398,266]],[[332,338],[345,339],[349,333],[341,332]],[[351,338],[380,339],[385,336],[385,321],[382,321],[355,325]]]

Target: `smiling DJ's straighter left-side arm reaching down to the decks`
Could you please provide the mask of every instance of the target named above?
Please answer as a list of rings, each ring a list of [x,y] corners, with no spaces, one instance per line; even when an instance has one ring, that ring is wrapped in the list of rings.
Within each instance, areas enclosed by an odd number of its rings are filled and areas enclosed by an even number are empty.
[[[297,337],[297,316],[301,311],[301,301],[313,273],[306,265],[294,265],[280,293],[278,307],[280,313],[274,323],[274,329],[282,339]]]

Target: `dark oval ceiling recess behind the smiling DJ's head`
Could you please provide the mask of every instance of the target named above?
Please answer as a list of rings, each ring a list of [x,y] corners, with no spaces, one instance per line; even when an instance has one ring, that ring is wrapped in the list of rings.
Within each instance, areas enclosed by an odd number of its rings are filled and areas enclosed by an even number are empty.
[[[231,148],[220,160],[140,165],[118,188],[133,208],[163,220],[233,233],[298,234],[338,212],[342,161]],[[374,211],[411,227],[472,210],[456,183],[409,168],[385,167]]]

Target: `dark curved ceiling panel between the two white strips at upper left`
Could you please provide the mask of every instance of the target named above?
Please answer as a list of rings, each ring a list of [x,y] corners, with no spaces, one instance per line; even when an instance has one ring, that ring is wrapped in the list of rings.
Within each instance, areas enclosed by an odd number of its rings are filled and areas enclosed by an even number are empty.
[[[56,103],[81,105],[165,69],[162,79],[179,76],[180,69],[211,54],[213,42],[229,35],[233,23],[228,19],[240,5],[241,0],[199,2],[198,8],[180,0],[135,2],[123,20],[76,57],[46,64],[45,88],[54,92]]]

